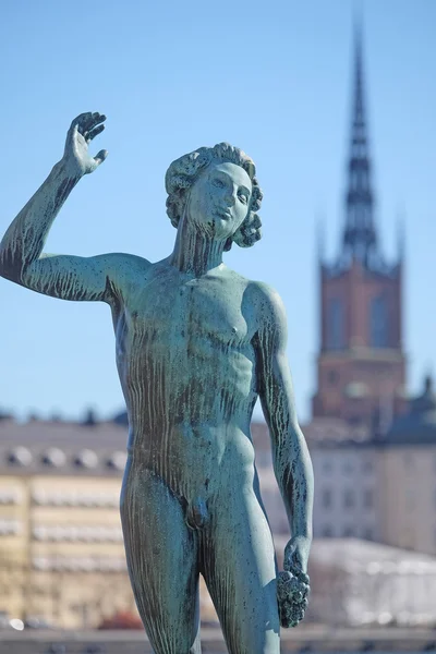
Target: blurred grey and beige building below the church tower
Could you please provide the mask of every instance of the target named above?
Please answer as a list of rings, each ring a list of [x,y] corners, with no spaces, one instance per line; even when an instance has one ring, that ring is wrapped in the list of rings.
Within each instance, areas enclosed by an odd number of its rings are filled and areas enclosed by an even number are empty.
[[[325,423],[324,423],[325,424]],[[328,424],[328,423],[327,423]],[[436,392],[425,378],[383,435],[303,427],[315,476],[314,535],[360,537],[436,555]],[[355,436],[355,434],[354,434]]]

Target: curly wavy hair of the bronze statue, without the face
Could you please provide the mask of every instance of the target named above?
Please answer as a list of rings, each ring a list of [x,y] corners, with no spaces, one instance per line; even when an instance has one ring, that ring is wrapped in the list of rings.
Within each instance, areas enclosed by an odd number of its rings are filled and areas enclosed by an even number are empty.
[[[253,160],[239,147],[228,143],[218,143],[215,147],[199,147],[197,150],[175,159],[165,175],[165,187],[168,193],[167,214],[173,227],[178,227],[183,215],[187,192],[194,183],[198,172],[206,168],[213,160],[229,161],[241,166],[252,181],[252,196],[245,220],[228,239],[225,250],[230,250],[234,241],[240,247],[251,247],[262,237],[261,218],[257,215],[261,208],[263,193],[256,179],[256,167]]]

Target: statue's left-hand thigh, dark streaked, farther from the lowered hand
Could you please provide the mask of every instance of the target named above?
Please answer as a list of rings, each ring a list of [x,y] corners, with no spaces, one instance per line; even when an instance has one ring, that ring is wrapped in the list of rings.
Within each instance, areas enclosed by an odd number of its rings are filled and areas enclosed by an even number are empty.
[[[133,593],[155,653],[196,651],[198,546],[179,499],[154,473],[131,472],[121,519]]]

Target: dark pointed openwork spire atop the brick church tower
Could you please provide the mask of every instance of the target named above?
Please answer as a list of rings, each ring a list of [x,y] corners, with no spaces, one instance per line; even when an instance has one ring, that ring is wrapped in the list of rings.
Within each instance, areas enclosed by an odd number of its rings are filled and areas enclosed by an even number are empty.
[[[346,196],[346,228],[343,250],[348,257],[361,261],[365,266],[376,254],[374,226],[374,198],[371,187],[371,160],[364,105],[364,78],[362,61],[362,27],[354,29],[354,90],[351,124],[348,190]]]

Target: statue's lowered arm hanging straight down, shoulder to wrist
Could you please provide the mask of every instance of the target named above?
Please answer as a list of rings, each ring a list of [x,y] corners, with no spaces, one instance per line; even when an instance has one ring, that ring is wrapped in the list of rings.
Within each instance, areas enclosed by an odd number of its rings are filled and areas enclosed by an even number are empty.
[[[283,567],[308,585],[314,480],[307,445],[296,419],[286,353],[286,312],[276,291],[265,284],[256,284],[256,291],[257,385],[271,437],[274,470],[292,534]],[[282,623],[283,620],[282,617]],[[292,622],[283,626],[293,626]]]

